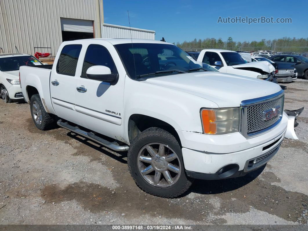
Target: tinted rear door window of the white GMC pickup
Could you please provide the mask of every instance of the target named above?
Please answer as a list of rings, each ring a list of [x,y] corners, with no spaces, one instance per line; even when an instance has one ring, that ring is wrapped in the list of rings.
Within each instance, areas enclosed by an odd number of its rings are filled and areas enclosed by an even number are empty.
[[[63,47],[56,71],[58,74],[75,76],[82,45],[71,44]]]

